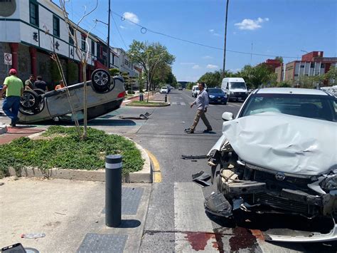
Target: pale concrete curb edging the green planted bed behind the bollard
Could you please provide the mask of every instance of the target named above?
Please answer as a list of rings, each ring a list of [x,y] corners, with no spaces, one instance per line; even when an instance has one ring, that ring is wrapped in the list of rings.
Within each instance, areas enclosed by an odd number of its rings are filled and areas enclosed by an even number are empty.
[[[44,132],[44,131],[43,131]],[[34,133],[29,135],[28,138],[36,138],[41,133]],[[124,137],[125,138],[125,137]],[[131,140],[127,138],[128,140]],[[122,182],[126,183],[151,183],[152,182],[152,167],[148,153],[134,140],[131,140],[136,147],[141,151],[141,158],[144,159],[143,169],[137,172],[129,173],[122,176]],[[102,170],[67,170],[67,169],[49,169],[41,170],[33,167],[20,169],[21,177],[48,177],[67,180],[83,180],[83,181],[99,181],[105,182],[105,169]],[[9,168],[9,175],[16,176],[14,168]]]

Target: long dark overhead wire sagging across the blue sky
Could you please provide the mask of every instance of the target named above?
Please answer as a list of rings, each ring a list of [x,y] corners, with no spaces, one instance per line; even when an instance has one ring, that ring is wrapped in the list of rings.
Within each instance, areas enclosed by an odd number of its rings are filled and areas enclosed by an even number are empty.
[[[111,11],[112,14],[115,14],[116,16],[119,16],[121,18],[122,21],[125,21],[125,17],[124,16],[121,16],[120,14],[117,14],[116,12],[114,11]],[[217,50],[221,50],[223,51],[223,48],[218,48],[216,46],[209,46],[209,45],[206,45],[206,44],[203,44],[203,43],[198,43],[198,42],[195,42],[195,41],[188,41],[186,39],[183,39],[183,38],[178,38],[176,36],[171,36],[169,34],[166,34],[166,33],[161,33],[159,31],[154,31],[154,30],[151,30],[151,29],[148,29],[146,28],[145,26],[141,26],[137,23],[135,23],[134,21],[131,21],[131,20],[127,20],[129,22],[131,22],[132,24],[136,25],[136,26],[139,26],[141,28],[141,33],[146,33],[147,31],[151,32],[151,33],[156,33],[156,34],[159,34],[161,36],[166,36],[166,37],[169,37],[169,38],[173,38],[173,39],[176,39],[177,41],[183,41],[183,42],[186,42],[186,43],[191,43],[191,44],[194,44],[194,45],[198,45],[198,46],[204,46],[206,48],[213,48],[213,49],[217,49]],[[234,51],[234,50],[229,50],[229,49],[226,49],[226,51],[228,52],[231,52],[231,53],[242,53],[242,54],[247,54],[247,55],[255,55],[255,56],[267,56],[267,57],[277,57],[277,56],[273,56],[273,55],[268,55],[268,54],[263,54],[263,53],[249,53],[249,52],[243,52],[243,51]],[[278,55],[279,56],[279,55]],[[295,56],[281,56],[282,58],[296,58]]]

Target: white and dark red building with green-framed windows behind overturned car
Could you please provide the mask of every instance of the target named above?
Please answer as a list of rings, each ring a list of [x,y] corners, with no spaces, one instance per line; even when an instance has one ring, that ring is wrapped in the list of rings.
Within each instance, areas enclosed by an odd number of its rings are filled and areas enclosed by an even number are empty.
[[[4,57],[4,53],[12,55],[11,66],[5,65],[4,60],[0,61],[0,82],[8,76],[9,68],[16,68],[18,77],[23,81],[31,73],[41,75],[53,88],[60,80],[55,61],[50,58],[53,51],[60,58],[68,84],[82,81],[82,67],[77,53],[88,53],[87,78],[95,68],[106,69],[107,43],[79,27],[76,36],[80,52],[76,53],[70,36],[70,33],[74,34],[74,29],[68,29],[62,10],[53,1],[0,1],[0,31],[0,56]],[[119,56],[112,48],[109,56],[109,68],[119,68]]]

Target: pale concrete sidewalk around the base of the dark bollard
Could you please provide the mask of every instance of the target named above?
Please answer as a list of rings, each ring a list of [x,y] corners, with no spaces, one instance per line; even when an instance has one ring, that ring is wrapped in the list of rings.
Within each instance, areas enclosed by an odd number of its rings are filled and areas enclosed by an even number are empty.
[[[21,242],[38,252],[138,252],[151,184],[122,186],[122,224],[105,226],[105,183],[0,179],[0,247]],[[38,239],[21,234],[45,233]]]

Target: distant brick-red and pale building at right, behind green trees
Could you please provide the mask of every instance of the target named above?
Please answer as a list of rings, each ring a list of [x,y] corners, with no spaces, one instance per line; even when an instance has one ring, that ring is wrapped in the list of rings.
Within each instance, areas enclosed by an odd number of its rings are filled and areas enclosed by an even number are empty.
[[[298,83],[303,76],[321,76],[331,67],[336,67],[337,57],[323,57],[323,51],[313,51],[301,57],[301,61],[291,61],[284,66],[275,68],[277,81]],[[328,80],[323,85],[327,85]]]

